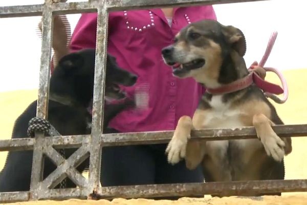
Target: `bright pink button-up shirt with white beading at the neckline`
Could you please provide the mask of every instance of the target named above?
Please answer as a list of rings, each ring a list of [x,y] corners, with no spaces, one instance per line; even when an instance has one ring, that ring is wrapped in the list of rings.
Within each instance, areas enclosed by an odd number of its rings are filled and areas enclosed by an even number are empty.
[[[161,49],[189,23],[216,19],[212,6],[176,8],[171,27],[161,9],[109,13],[107,52],[120,67],[139,76],[129,95],[143,99],[146,109],[125,110],[109,126],[121,132],[174,130],[179,118],[192,116],[204,89],[192,78],[178,79],[162,60]],[[70,49],[95,48],[97,13],[82,14]],[[142,100],[141,100],[142,101]]]

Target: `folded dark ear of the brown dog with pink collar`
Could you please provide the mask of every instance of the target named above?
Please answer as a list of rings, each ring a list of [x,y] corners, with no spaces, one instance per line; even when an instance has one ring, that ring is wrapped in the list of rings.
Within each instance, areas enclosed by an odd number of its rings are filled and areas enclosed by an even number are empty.
[[[222,26],[222,33],[226,42],[243,57],[246,53],[246,40],[243,32],[233,26]]]

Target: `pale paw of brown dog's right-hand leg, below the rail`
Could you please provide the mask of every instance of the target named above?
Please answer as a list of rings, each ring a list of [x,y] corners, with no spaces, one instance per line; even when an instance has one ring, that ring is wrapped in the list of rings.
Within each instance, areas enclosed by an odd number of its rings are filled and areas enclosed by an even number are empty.
[[[275,132],[261,137],[261,142],[269,156],[272,156],[276,161],[281,161],[283,159],[285,144]]]

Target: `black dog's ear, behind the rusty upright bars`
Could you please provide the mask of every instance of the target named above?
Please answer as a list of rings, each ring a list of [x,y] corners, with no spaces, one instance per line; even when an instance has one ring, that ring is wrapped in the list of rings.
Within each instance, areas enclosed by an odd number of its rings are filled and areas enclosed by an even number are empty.
[[[70,53],[59,60],[58,66],[64,70],[73,70],[82,66],[84,59],[79,53]]]

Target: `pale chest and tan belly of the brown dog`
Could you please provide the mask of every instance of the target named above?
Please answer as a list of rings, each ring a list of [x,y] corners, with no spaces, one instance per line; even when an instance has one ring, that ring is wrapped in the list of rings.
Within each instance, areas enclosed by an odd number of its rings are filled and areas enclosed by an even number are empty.
[[[244,111],[232,108],[229,103],[222,101],[222,96],[212,96],[208,102],[211,109],[198,110],[193,116],[195,129],[204,128],[237,128],[250,126],[244,121],[247,116]],[[237,107],[237,106],[235,106]],[[221,180],[234,180],[244,178],[244,172],[255,150],[259,149],[259,140],[218,140],[207,141],[206,153],[210,160],[206,163],[213,170],[223,170],[218,178]],[[221,165],[221,166],[216,166]],[[222,166],[223,165],[223,166]]]

